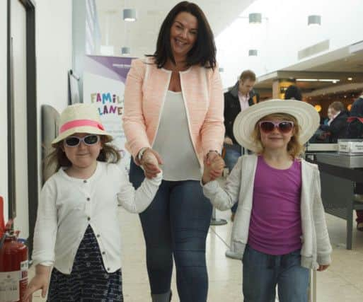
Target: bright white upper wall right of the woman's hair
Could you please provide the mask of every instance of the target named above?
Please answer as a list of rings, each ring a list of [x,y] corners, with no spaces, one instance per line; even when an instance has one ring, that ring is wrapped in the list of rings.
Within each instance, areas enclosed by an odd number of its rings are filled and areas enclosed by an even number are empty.
[[[263,13],[263,23],[249,25],[249,13]],[[321,15],[321,26],[307,25],[311,14]],[[303,62],[298,51],[317,42],[329,39],[330,52],[363,40],[362,0],[258,0],[240,16],[216,39],[224,87],[233,85],[243,69],[263,75]],[[248,57],[255,46],[258,57]]]

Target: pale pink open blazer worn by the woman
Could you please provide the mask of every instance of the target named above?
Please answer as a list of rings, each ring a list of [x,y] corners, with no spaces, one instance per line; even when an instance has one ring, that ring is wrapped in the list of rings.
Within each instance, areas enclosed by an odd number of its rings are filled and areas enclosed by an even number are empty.
[[[142,147],[154,144],[171,79],[171,71],[158,69],[152,62],[151,58],[134,59],[126,80],[122,121],[126,148],[134,158]],[[202,166],[208,151],[221,151],[224,139],[224,97],[218,67],[213,71],[191,66],[180,71],[180,82],[190,137]]]

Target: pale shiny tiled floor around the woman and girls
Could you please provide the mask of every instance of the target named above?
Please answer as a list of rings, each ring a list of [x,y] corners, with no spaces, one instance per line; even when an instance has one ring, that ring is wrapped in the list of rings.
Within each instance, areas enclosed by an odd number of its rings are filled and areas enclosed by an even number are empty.
[[[229,221],[230,212],[217,212],[217,217]],[[146,274],[144,239],[137,215],[122,210],[123,235],[123,291],[125,302],[149,302],[149,284]],[[363,232],[354,231],[353,250],[345,250],[345,221],[327,215],[328,231],[333,244],[333,264],[317,274],[318,302],[363,301]],[[209,302],[243,301],[241,262],[224,256],[231,222],[212,226],[207,237],[207,265],[209,270]],[[30,269],[30,276],[33,269]],[[173,302],[177,302],[175,274]],[[33,301],[44,301],[40,293]]]

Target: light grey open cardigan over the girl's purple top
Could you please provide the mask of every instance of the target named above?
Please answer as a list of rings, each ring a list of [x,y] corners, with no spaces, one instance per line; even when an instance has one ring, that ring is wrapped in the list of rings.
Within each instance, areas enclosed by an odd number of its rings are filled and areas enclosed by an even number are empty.
[[[255,155],[238,158],[223,188],[217,181],[203,186],[204,195],[222,211],[231,209],[239,200],[232,228],[231,250],[241,259],[248,242],[257,158]],[[321,201],[318,166],[301,159],[301,180],[301,266],[318,269],[319,265],[330,264],[332,252]]]

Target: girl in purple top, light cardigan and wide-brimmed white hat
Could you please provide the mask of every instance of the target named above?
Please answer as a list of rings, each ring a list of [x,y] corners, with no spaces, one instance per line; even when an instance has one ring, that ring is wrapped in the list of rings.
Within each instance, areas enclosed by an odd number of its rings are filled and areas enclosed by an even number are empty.
[[[212,204],[226,210],[239,201],[231,249],[243,262],[244,301],[275,301],[276,286],[280,301],[307,301],[309,269],[330,265],[318,167],[299,157],[318,125],[308,103],[259,103],[234,123],[238,143],[255,154],[238,159],[223,188],[209,181],[223,160],[204,165],[203,191]]]

